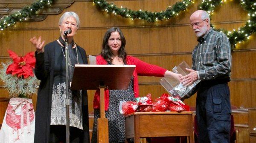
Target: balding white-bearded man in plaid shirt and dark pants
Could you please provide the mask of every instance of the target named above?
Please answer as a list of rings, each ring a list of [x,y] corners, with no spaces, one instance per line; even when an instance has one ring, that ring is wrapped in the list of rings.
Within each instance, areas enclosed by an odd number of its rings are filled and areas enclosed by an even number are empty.
[[[198,37],[192,52],[192,69],[181,78],[188,86],[195,80],[201,82],[186,95],[197,92],[196,117],[199,143],[230,142],[230,42],[224,33],[210,27],[209,14],[198,10],[190,16],[190,26]]]

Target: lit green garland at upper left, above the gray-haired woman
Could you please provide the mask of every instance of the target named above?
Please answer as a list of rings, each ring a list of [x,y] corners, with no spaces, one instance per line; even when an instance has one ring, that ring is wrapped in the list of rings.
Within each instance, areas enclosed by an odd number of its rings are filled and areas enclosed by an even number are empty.
[[[25,6],[20,11],[3,17],[0,20],[0,30],[6,29],[8,26],[14,26],[17,21],[26,20],[38,13],[38,10],[44,9],[44,6],[50,5],[54,0],[38,0],[32,3],[31,6]]]

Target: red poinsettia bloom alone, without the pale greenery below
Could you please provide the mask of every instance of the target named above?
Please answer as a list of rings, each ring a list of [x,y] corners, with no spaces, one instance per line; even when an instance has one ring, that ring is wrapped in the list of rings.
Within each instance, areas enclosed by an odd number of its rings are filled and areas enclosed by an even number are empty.
[[[6,74],[17,75],[17,77],[28,78],[33,77],[33,69],[35,69],[34,52],[27,53],[24,57],[19,57],[15,52],[8,50],[13,63],[6,69]]]

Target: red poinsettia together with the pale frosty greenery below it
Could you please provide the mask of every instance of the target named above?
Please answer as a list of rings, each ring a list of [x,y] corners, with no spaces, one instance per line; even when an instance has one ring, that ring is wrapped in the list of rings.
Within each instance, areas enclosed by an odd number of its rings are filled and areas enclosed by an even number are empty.
[[[31,97],[36,93],[39,80],[34,76],[34,52],[19,57],[14,51],[8,50],[13,62],[1,63],[0,79],[11,97]]]

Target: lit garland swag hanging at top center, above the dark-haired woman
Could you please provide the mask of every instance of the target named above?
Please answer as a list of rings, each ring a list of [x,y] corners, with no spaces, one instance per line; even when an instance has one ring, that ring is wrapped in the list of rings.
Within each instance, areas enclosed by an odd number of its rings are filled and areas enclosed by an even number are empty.
[[[125,18],[131,18],[132,20],[135,18],[146,20],[148,22],[155,22],[157,20],[169,19],[174,16],[177,16],[180,11],[185,11],[188,6],[192,4],[193,0],[183,0],[182,2],[175,3],[172,7],[169,6],[166,11],[161,12],[151,12],[151,11],[133,11],[127,8],[119,8],[113,3],[108,3],[106,0],[93,0],[97,6],[103,11],[107,11],[108,13],[118,14]]]

